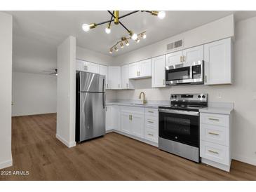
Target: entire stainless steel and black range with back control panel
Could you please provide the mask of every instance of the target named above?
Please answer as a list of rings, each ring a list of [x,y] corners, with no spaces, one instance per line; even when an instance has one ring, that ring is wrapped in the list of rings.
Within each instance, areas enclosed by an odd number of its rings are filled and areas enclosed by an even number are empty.
[[[159,107],[159,149],[199,163],[199,109],[207,94],[172,94],[170,106]]]

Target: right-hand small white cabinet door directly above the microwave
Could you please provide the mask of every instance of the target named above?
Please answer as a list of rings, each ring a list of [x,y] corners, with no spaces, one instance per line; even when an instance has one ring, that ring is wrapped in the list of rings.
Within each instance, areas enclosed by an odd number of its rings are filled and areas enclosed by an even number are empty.
[[[183,62],[196,62],[203,60],[203,46],[183,50]]]

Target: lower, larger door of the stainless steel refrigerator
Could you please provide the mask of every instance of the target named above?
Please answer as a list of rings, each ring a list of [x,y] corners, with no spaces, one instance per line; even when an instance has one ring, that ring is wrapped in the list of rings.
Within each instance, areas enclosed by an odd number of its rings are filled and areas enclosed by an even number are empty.
[[[79,141],[105,135],[105,93],[80,92]]]

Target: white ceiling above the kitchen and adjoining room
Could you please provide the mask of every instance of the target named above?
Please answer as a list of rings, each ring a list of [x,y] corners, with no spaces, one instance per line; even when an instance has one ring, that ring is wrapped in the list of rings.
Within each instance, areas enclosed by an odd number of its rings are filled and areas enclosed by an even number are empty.
[[[119,15],[129,11],[120,11]],[[13,68],[15,71],[40,72],[56,67],[56,47],[67,36],[76,36],[77,46],[95,50],[105,55],[121,36],[127,32],[121,25],[112,25],[106,34],[106,25],[83,32],[83,23],[110,19],[107,11],[8,11],[13,15]],[[135,13],[121,19],[135,33],[147,31],[147,39],[130,42],[113,56],[128,53],[142,46],[161,41],[175,34],[204,25],[234,13],[235,20],[256,16],[256,11],[166,11],[166,18],[149,13]]]

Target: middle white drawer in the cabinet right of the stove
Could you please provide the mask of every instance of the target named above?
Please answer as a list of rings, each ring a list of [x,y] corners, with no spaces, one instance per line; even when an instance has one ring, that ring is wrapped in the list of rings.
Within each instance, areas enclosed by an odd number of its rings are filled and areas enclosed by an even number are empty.
[[[201,123],[200,139],[206,142],[229,146],[229,128]]]

